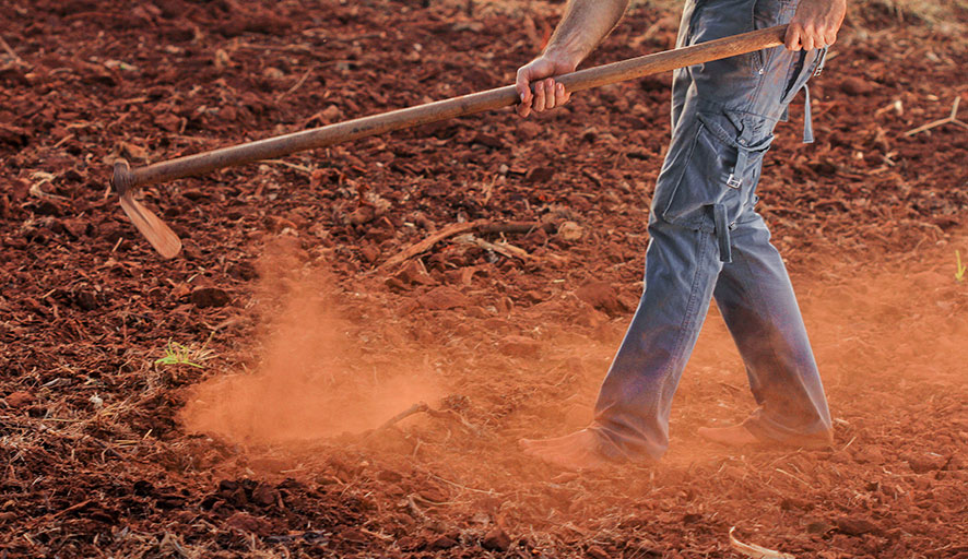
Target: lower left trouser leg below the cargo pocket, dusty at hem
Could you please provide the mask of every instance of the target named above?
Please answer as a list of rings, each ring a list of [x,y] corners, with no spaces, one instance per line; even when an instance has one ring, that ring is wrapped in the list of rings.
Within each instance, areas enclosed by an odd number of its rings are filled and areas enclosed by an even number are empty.
[[[659,459],[682,370],[709,310],[721,263],[716,239],[661,219],[649,224],[646,289],[602,383],[590,429],[614,459]]]

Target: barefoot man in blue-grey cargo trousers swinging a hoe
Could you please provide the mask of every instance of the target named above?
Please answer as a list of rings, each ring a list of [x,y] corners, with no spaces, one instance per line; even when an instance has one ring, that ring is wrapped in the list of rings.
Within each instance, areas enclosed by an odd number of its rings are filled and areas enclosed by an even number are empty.
[[[568,102],[553,76],[574,71],[627,5],[569,1],[544,52],[518,70],[522,117]],[[830,445],[830,415],[793,288],[754,204],[772,130],[822,68],[846,9],[846,0],[686,0],[680,47],[789,22],[786,45],[675,72],[672,142],[652,197],[639,307],[592,424],[557,439],[522,440],[527,453],[568,468],[658,460],[669,444],[673,393],[713,298],[759,408],[740,425],[699,435],[730,445]],[[804,112],[810,142],[808,90]]]

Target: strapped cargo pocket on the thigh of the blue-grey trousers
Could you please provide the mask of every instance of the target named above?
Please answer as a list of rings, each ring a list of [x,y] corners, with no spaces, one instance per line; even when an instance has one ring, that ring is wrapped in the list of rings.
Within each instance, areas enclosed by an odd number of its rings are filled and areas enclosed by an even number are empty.
[[[657,210],[669,223],[712,233],[717,219],[732,226],[755,203],[772,127],[762,117],[732,111],[700,112],[696,126],[693,141],[682,147],[686,153],[672,158],[678,173],[659,177]]]

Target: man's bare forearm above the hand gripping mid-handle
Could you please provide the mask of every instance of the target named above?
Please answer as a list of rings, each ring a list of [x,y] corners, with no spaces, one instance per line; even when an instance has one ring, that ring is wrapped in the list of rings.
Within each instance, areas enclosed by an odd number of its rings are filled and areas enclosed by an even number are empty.
[[[545,56],[578,64],[611,33],[629,0],[569,0]]]

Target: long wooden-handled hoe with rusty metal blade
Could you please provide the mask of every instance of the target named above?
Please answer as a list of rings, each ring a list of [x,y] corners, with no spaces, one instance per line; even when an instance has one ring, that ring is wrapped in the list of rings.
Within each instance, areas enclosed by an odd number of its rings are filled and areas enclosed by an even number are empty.
[[[564,84],[569,92],[580,92],[677,68],[778,47],[783,44],[786,34],[787,26],[778,25],[690,47],[579,70],[556,76],[555,80]],[[244,165],[261,159],[274,159],[296,152],[327,147],[385,132],[508,107],[517,105],[519,102],[520,98],[515,86],[508,85],[311,130],[303,130],[231,147],[222,147],[211,152],[187,155],[137,169],[130,169],[127,162],[119,160],[115,164],[111,186],[121,195],[121,206],[138,229],[147,237],[149,241],[152,242],[162,255],[172,258],[180,250],[180,240],[177,240],[177,236],[161,219],[151,214],[146,207],[131,197],[132,189],[201,175],[223,167]],[[167,230],[162,230],[160,227]],[[177,241],[177,247],[175,241]]]

